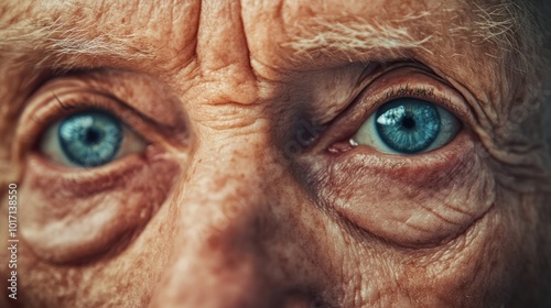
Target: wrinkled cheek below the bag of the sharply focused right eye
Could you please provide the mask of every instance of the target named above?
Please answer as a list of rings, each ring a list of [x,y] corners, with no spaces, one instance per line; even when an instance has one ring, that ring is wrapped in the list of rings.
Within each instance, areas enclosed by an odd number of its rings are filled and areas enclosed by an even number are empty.
[[[514,290],[525,289],[526,275],[533,271],[530,266],[537,266],[530,240],[534,234],[527,230],[533,217],[520,213],[525,210],[518,196],[497,195],[476,223],[439,246],[412,250],[353,239],[365,251],[359,264],[347,271],[363,285],[361,296],[372,300],[366,306],[501,307],[509,302]]]

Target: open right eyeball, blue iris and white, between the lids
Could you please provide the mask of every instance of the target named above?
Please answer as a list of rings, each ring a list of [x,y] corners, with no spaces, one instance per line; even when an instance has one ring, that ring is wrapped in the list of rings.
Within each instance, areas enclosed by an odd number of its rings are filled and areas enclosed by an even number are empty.
[[[350,139],[391,154],[420,154],[450,143],[461,122],[444,108],[423,99],[397,98],[377,109]]]

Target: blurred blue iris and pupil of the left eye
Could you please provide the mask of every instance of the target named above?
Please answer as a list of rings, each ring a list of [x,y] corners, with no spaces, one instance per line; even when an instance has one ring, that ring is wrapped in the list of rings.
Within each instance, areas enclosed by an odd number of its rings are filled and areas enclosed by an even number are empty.
[[[122,143],[122,124],[105,112],[85,111],[63,120],[57,138],[72,163],[82,167],[96,167],[117,156]]]

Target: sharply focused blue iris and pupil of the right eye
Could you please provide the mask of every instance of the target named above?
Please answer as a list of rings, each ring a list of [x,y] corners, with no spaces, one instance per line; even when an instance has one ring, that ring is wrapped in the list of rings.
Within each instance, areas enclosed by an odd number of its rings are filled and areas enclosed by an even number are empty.
[[[426,150],[441,130],[436,107],[413,98],[386,103],[377,110],[376,119],[377,132],[382,142],[403,154]]]

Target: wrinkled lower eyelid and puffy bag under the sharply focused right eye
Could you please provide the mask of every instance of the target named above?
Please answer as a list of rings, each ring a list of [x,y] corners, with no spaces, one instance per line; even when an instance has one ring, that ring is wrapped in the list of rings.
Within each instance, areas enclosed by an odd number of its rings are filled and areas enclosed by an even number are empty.
[[[403,246],[439,245],[458,237],[495,200],[491,172],[466,132],[430,155],[397,156],[356,147],[311,158],[316,163],[301,162],[311,167],[301,168],[306,173],[299,177],[315,188],[312,193],[321,206]],[[461,189],[471,194],[457,195]]]

